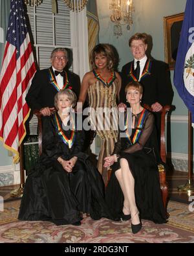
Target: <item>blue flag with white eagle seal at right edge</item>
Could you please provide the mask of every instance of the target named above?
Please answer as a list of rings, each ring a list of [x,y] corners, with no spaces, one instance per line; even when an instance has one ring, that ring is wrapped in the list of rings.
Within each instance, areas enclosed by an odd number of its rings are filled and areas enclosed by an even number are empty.
[[[187,0],[178,43],[174,84],[194,124],[194,0]]]

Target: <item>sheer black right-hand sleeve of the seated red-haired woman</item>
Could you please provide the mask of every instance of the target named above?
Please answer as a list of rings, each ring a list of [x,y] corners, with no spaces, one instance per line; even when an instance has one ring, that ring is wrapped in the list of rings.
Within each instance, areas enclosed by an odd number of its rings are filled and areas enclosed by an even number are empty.
[[[134,145],[130,146],[129,148],[126,148],[122,152],[130,154],[138,150],[142,150],[142,148],[144,148],[144,145],[146,144],[147,139],[149,139],[149,136],[153,132],[154,122],[155,122],[154,115],[152,113],[148,113],[146,120],[144,122],[144,128],[142,130],[142,134],[140,135],[138,142],[136,142]]]

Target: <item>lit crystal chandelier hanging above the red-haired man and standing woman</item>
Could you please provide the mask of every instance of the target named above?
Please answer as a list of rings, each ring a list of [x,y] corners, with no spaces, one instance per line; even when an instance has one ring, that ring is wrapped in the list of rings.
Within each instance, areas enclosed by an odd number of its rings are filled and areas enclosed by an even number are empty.
[[[127,25],[127,30],[130,30],[131,25],[133,25],[133,0],[112,0],[109,8],[112,10],[111,21],[115,23],[114,36],[118,38],[123,34],[122,25]]]

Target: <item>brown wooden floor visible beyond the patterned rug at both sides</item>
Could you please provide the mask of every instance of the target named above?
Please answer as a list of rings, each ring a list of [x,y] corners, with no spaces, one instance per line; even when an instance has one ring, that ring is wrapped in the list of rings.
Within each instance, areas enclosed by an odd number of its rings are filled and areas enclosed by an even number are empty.
[[[178,186],[185,185],[188,181],[186,172],[170,171],[167,173],[167,183],[169,186],[169,199],[182,203],[189,203],[189,196],[194,196],[194,192],[189,194],[187,191],[178,191]],[[192,181],[194,185],[194,178]],[[0,187],[0,196],[3,196],[5,202],[10,200],[16,200],[18,198],[12,198],[10,192],[17,189],[19,185],[11,185]],[[191,201],[190,201],[191,202]]]

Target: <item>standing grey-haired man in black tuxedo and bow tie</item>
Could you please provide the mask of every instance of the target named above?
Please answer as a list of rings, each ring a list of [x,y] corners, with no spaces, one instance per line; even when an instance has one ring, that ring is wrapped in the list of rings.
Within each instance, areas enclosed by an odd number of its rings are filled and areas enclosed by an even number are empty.
[[[72,89],[79,97],[81,86],[78,75],[65,71],[68,62],[65,48],[54,49],[50,62],[51,67],[36,72],[26,97],[31,110],[39,110],[44,116],[50,115],[54,110],[54,96],[60,89]]]

